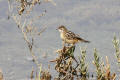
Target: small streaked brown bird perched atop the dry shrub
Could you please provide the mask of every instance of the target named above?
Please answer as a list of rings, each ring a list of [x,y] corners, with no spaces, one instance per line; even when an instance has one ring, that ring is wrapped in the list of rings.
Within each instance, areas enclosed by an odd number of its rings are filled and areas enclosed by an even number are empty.
[[[87,41],[87,40],[84,40],[84,39],[80,38],[79,35],[69,31],[63,25],[58,27],[58,30],[60,32],[60,37],[63,40],[63,45],[65,43],[75,45],[78,42],[85,42],[85,43],[89,43],[90,42],[90,41]]]

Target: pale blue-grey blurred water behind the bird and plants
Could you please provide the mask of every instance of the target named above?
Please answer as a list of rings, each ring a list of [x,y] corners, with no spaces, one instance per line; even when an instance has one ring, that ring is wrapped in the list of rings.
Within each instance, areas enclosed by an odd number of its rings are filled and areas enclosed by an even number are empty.
[[[47,10],[45,16],[36,21],[36,26],[47,29],[37,38],[36,55],[43,68],[51,66],[51,73],[55,75],[54,63],[50,63],[57,57],[55,50],[62,47],[62,41],[56,28],[65,25],[69,30],[79,34],[91,43],[79,43],[76,45],[75,57],[80,54],[80,47],[87,46],[87,63],[89,72],[95,72],[93,61],[93,49],[97,48],[99,56],[105,61],[108,56],[112,72],[118,71],[115,59],[115,50],[112,39],[114,33],[120,37],[120,1],[119,0],[54,0],[56,6],[51,3],[37,6],[35,11]],[[8,20],[7,0],[0,0],[0,69],[6,80],[28,80],[35,64],[31,61],[31,55],[23,39],[23,35],[15,22]],[[39,52],[39,53],[38,53]],[[47,55],[44,58],[44,55]]]

